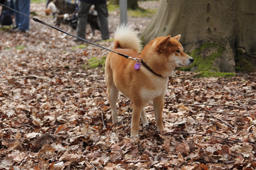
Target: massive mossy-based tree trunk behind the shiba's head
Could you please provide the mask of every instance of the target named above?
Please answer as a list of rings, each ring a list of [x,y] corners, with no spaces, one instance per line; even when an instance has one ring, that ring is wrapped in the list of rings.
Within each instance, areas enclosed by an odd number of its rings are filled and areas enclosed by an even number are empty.
[[[211,69],[235,72],[236,49],[256,51],[255,14],[255,0],[162,0],[141,36],[147,44],[159,36],[181,34],[185,52],[197,50],[191,54],[206,60],[221,51],[212,57]]]

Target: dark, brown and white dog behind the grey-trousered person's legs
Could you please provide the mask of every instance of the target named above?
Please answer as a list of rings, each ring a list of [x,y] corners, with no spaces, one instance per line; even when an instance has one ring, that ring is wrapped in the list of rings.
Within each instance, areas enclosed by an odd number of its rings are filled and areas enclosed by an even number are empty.
[[[60,23],[69,25],[73,30],[76,30],[77,26],[77,16],[76,13],[76,6],[77,4],[71,4],[67,1],[63,0],[52,0],[46,10],[46,15],[53,15],[55,18],[55,25],[58,27],[60,26]],[[92,35],[88,37],[88,39],[92,39],[92,37],[95,35],[95,30],[100,30],[100,22],[98,13],[95,10],[95,6],[92,5],[87,18],[87,23],[91,26],[92,29]],[[68,30],[70,32],[71,30]],[[65,35],[62,36],[63,38]]]

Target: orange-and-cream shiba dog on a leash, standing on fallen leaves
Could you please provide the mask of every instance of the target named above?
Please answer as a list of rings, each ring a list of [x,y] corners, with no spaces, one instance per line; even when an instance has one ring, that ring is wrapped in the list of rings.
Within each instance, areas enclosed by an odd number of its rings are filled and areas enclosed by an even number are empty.
[[[121,25],[115,32],[113,50],[142,59],[140,68],[134,69],[136,61],[110,52],[105,64],[112,122],[113,124],[118,122],[116,101],[120,91],[133,103],[131,136],[138,137],[140,117],[143,126],[148,125],[144,107],[150,100],[153,100],[157,130],[164,129],[162,112],[168,78],[171,77],[175,67],[187,67],[194,60],[184,53],[179,42],[180,36],[157,37],[141,51],[140,38],[137,37],[131,26]]]

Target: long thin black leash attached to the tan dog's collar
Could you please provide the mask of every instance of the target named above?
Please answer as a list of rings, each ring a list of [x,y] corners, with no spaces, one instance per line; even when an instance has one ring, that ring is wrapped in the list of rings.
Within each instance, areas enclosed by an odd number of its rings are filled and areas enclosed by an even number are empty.
[[[1,4],[1,5],[3,5],[3,4]],[[5,6],[5,5],[3,5],[3,6]],[[122,53],[117,53],[116,51],[113,51],[113,50],[111,50],[111,49],[102,47],[102,46],[100,46],[100,45],[98,45],[98,44],[95,44],[95,43],[93,43],[93,42],[91,42],[91,41],[84,40],[83,38],[77,37],[77,36],[75,36],[75,35],[73,35],[73,34],[71,34],[71,33],[68,33],[68,32],[66,32],[66,31],[63,31],[63,30],[61,30],[61,29],[59,29],[59,28],[57,28],[57,27],[55,27],[55,26],[52,26],[52,25],[50,25],[50,24],[47,24],[47,23],[45,23],[45,22],[43,22],[43,21],[41,21],[41,20],[39,20],[39,19],[37,19],[37,18],[32,18],[32,17],[30,17],[30,16],[28,16],[28,15],[25,15],[25,14],[23,14],[23,13],[21,13],[21,12],[19,12],[19,11],[16,11],[16,10],[14,10],[14,9],[8,7],[8,6],[5,6],[5,7],[9,8],[10,10],[13,10],[13,11],[15,11],[15,12],[18,12],[18,13],[20,13],[20,14],[22,14],[22,15],[28,17],[28,18],[31,18],[31,19],[33,19],[33,20],[36,21],[36,22],[39,22],[39,23],[44,24],[44,25],[46,25],[46,26],[49,26],[49,27],[51,27],[51,28],[53,28],[53,29],[56,29],[56,30],[58,30],[58,31],[60,31],[60,32],[62,32],[62,33],[68,34],[68,35],[70,35],[70,36],[72,36],[72,37],[76,37],[76,38],[79,39],[79,40],[82,40],[82,41],[88,42],[88,43],[90,43],[90,44],[92,44],[92,45],[95,45],[95,46],[97,46],[97,47],[106,49],[106,50],[108,50],[108,51],[111,51],[111,52],[113,52],[113,53],[116,53],[116,54],[118,54],[118,55],[121,55],[121,56],[123,56],[123,57],[125,57],[125,58],[129,58],[129,59],[132,59],[132,60],[134,60],[134,61],[139,61],[138,58],[132,58],[132,57],[129,57],[128,55],[124,55],[124,54],[122,54]]]

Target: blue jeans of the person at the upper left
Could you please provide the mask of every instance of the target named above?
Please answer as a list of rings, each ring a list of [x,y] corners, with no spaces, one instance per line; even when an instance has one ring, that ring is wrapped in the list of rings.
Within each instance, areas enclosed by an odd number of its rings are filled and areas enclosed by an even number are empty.
[[[15,10],[28,16],[30,14],[29,5],[30,5],[30,0],[15,0]],[[29,30],[28,17],[18,12],[15,12],[15,20],[16,20],[16,25],[18,26],[18,29]]]

